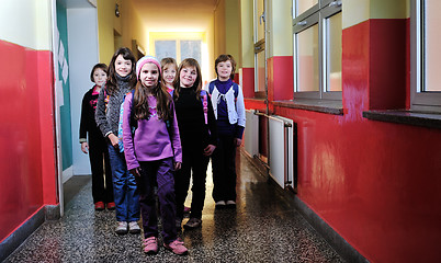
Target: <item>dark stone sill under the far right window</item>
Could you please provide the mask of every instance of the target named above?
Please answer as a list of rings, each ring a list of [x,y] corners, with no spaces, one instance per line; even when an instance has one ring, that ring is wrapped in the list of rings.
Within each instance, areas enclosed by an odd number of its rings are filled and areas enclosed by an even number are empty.
[[[387,123],[407,124],[427,128],[441,128],[440,113],[415,112],[405,110],[368,111],[363,112],[363,117]]]

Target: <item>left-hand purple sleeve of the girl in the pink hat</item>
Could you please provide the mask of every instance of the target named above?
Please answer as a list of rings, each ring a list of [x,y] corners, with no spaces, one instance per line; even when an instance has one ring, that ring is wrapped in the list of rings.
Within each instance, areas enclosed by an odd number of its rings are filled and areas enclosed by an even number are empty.
[[[133,135],[131,128],[131,115],[132,115],[132,93],[125,96],[124,112],[123,112],[123,144],[125,161],[127,162],[127,170],[132,170],[139,167],[138,160],[135,156],[135,149],[133,145]]]

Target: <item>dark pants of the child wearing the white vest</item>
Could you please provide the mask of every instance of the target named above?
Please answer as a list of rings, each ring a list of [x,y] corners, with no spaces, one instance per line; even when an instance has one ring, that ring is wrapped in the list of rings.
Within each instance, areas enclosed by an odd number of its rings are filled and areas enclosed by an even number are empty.
[[[212,157],[213,199],[236,202],[236,144],[233,136],[219,136]]]

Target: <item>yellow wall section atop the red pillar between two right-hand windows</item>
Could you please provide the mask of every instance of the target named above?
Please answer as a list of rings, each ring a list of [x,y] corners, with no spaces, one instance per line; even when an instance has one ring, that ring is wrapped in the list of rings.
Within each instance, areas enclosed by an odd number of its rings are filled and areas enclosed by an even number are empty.
[[[369,19],[409,18],[409,0],[343,0],[343,28]]]

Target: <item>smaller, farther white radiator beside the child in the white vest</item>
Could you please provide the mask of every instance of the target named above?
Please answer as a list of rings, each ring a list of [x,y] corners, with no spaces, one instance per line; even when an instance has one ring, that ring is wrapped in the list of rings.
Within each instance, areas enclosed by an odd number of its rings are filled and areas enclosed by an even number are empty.
[[[255,110],[246,111],[245,150],[250,157],[259,156],[259,116]]]

